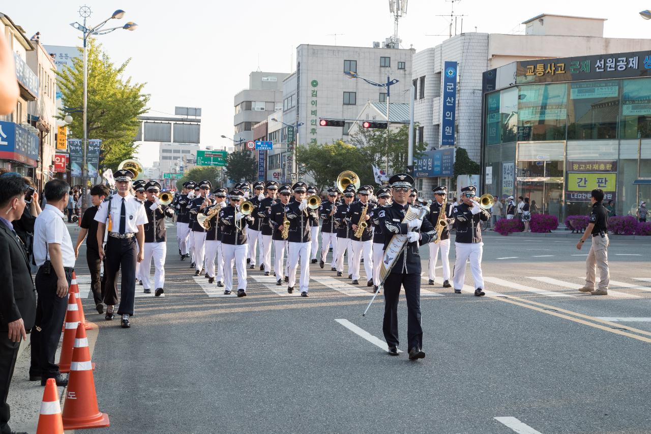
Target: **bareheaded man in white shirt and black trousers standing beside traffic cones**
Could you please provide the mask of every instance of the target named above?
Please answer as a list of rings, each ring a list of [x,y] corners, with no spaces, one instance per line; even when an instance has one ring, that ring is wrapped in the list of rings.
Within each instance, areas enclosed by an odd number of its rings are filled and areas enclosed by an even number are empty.
[[[63,210],[68,205],[70,186],[53,179],[43,189],[48,204],[36,217],[34,224],[34,260],[36,272],[36,321],[31,337],[30,373],[40,371],[41,385],[53,378],[64,386],[68,380],[61,375],[54,356],[61,338],[61,328],[68,308],[68,287],[75,266],[75,250],[70,233],[63,222]]]

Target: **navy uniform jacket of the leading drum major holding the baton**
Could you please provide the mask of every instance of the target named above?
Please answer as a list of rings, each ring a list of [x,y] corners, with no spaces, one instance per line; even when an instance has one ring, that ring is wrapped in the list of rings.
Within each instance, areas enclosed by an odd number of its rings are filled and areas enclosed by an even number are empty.
[[[386,229],[384,240],[385,250],[393,238],[393,235],[406,235],[409,231],[420,231],[421,233],[421,240],[409,242],[405,250],[402,252],[402,255],[398,257],[394,267],[391,268],[392,274],[421,274],[421,255],[419,253],[419,246],[436,239],[434,226],[432,226],[427,218],[422,220],[420,229],[412,228],[409,230],[406,223],[400,223],[402,222],[407,209],[408,205],[400,205],[400,203],[394,202],[391,207],[381,207],[380,212],[378,212],[382,230]]]

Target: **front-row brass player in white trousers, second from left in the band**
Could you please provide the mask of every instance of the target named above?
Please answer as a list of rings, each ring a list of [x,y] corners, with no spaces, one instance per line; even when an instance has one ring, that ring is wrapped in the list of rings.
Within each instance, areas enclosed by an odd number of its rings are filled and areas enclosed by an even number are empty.
[[[224,280],[226,289],[224,294],[229,295],[233,289],[233,263],[238,273],[238,297],[246,296],[246,255],[247,225],[245,220],[252,220],[240,212],[244,192],[232,190],[230,192],[230,206],[219,212],[221,224],[221,250],[224,254]]]

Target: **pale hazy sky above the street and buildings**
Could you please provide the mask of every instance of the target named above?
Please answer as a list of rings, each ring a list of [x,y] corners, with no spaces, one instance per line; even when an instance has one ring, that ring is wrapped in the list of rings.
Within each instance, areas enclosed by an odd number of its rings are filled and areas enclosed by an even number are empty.
[[[118,30],[100,42],[115,63],[132,58],[126,73],[147,83],[150,114],[174,113],[174,106],[202,108],[202,146],[223,146],[227,139],[219,136],[232,137],[233,96],[248,86],[249,72],[291,72],[299,44],[334,44],[334,33],[340,34],[337,45],[347,46],[371,46],[393,35],[388,0],[5,0],[0,12],[28,37],[40,31],[43,44],[66,46],[79,43],[79,31],[68,23],[81,20],[83,4],[93,10],[91,25],[118,8],[126,16],[113,20],[115,25],[138,23],[137,30]],[[403,48],[423,50],[447,38],[426,35],[447,35],[450,1],[409,0],[408,6],[400,20]],[[465,15],[465,32],[475,26],[480,32],[522,32],[521,22],[548,13],[607,18],[605,36],[620,38],[651,36],[651,21],[638,14],[646,8],[651,0],[454,2],[455,14]],[[158,160],[158,144],[142,147],[140,158],[146,166]]]

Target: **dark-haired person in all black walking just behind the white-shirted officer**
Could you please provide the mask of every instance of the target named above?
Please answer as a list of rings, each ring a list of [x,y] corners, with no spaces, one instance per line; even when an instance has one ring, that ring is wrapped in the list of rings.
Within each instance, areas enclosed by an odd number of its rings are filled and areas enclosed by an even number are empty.
[[[98,184],[90,189],[90,200],[92,207],[87,209],[81,217],[81,229],[77,236],[77,243],[75,246],[75,257],[79,257],[79,246],[86,238],[86,261],[88,269],[90,270],[90,289],[92,289],[92,298],[95,300],[95,308],[98,313],[104,313],[104,304],[102,300],[104,293],[102,293],[102,282],[100,282],[102,274],[102,259],[100,252],[97,248],[97,227],[98,222],[95,221],[95,214],[100,207],[100,203],[109,195],[109,188],[105,185]]]

